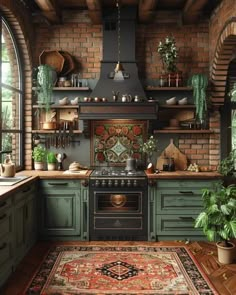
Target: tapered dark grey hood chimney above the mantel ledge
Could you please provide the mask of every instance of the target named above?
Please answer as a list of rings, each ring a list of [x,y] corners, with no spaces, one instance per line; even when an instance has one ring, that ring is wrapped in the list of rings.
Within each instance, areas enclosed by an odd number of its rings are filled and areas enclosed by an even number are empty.
[[[115,81],[114,69],[118,62],[118,21],[117,10],[106,10],[103,15],[103,60],[100,78],[91,93],[92,97],[105,97],[112,101],[112,91],[122,94],[138,95],[146,100],[142,83],[138,77],[135,60],[135,24],[137,8],[126,6],[120,8],[120,62],[124,67],[125,79]]]

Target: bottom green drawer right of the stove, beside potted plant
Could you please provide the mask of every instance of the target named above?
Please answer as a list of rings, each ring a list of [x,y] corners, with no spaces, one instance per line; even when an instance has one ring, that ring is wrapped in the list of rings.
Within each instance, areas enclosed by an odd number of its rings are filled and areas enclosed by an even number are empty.
[[[196,217],[197,215],[156,215],[157,235],[201,236],[202,230],[194,228]]]

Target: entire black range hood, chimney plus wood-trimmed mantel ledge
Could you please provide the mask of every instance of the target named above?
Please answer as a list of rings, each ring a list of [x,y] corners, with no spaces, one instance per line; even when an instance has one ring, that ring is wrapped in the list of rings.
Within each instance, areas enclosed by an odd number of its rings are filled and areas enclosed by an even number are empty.
[[[106,102],[79,103],[79,118],[97,119],[157,119],[157,103],[148,102],[138,76],[135,60],[135,25],[137,8],[121,7],[120,11],[120,62],[125,70],[123,81],[114,81],[112,73],[118,62],[117,9],[105,10],[103,15],[103,60],[100,78],[91,97],[104,98]],[[113,101],[113,92],[119,92]],[[121,102],[123,94],[138,95],[142,102]]]

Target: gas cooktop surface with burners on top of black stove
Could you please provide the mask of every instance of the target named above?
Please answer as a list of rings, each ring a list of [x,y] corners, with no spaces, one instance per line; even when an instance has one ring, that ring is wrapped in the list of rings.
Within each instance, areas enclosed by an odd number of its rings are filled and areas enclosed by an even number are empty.
[[[97,177],[138,177],[138,176],[145,176],[145,172],[143,170],[132,170],[127,171],[124,167],[102,167],[96,168],[91,176]]]

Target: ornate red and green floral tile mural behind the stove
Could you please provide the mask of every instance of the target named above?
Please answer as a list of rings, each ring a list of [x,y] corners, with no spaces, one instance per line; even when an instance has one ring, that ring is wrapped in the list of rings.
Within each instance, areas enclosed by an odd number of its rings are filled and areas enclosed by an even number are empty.
[[[123,166],[130,154],[141,159],[141,146],[147,137],[146,121],[93,121],[91,128],[92,165]]]

